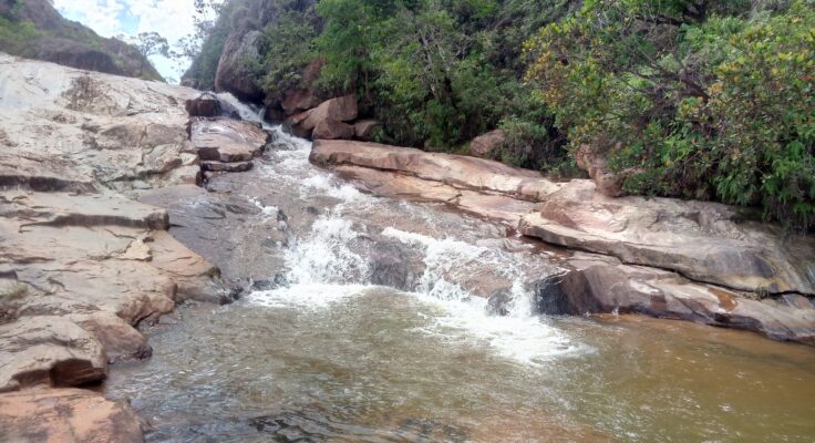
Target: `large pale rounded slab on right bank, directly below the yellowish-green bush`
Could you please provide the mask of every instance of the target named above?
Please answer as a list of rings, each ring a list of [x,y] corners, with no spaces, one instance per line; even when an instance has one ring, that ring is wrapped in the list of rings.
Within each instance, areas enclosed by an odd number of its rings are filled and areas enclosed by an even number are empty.
[[[571,182],[537,213],[524,216],[522,234],[626,264],[752,292],[815,293],[815,240],[742,222],[739,209],[668,198],[610,198]]]

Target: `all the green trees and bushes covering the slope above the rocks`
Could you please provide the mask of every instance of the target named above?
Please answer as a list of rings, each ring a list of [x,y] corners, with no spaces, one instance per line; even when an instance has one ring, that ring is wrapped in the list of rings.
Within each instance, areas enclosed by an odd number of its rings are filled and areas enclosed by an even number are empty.
[[[214,75],[231,11],[252,1],[227,3],[198,79]],[[276,19],[252,65],[270,101],[321,59],[319,95],[355,93],[383,142],[462,152],[502,127],[506,163],[569,175],[588,146],[629,193],[815,227],[813,0],[265,4]]]

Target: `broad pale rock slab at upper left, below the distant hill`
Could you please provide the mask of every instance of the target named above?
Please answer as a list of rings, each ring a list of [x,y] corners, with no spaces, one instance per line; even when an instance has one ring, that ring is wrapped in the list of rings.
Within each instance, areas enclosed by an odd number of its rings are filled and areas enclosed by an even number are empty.
[[[126,193],[136,184],[189,179],[179,173],[197,162],[184,102],[199,92],[6,54],[0,63],[7,63],[0,70],[0,187]]]

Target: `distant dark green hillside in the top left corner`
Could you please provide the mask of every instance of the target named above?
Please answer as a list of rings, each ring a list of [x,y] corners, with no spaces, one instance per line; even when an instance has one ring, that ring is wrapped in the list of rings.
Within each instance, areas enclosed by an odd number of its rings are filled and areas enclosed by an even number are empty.
[[[0,0],[0,51],[109,74],[163,80],[135,48],[64,19],[48,0]]]

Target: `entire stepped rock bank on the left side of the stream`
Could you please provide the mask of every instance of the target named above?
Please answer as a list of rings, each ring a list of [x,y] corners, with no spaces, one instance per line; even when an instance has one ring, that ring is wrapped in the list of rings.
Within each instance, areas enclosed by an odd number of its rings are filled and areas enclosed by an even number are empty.
[[[246,171],[270,136],[190,120],[186,87],[0,63],[0,441],[142,441],[127,404],[72,388],[149,357],[137,326],[229,295],[167,212],[137,200],[203,168]]]

